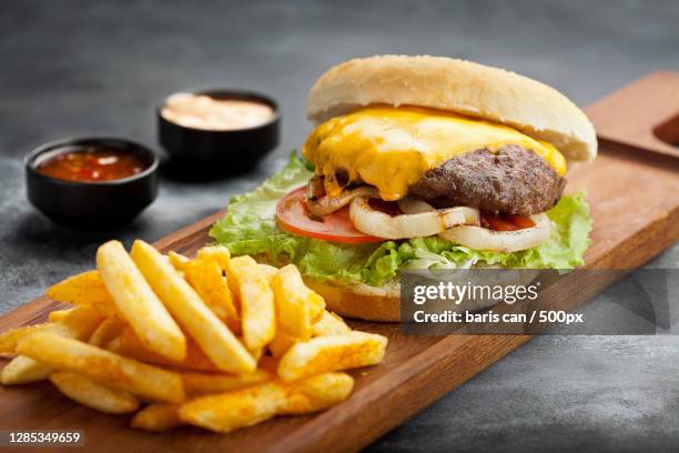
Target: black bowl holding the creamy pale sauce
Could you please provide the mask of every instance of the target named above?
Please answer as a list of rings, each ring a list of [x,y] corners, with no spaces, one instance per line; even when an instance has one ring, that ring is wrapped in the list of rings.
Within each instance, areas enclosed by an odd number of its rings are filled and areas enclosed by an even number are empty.
[[[202,169],[211,173],[233,174],[252,169],[278,144],[281,112],[277,103],[260,93],[239,90],[202,89],[181,91],[204,94],[214,99],[242,100],[263,103],[272,108],[271,118],[259,125],[233,130],[195,129],[165,119],[158,107],[158,132],[161,145],[185,170]]]

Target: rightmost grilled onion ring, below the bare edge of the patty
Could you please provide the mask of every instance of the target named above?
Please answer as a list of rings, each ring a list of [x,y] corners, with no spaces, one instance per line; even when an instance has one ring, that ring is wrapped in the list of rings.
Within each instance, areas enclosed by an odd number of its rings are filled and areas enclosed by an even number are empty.
[[[493,252],[518,252],[533,249],[549,239],[551,222],[547,214],[530,215],[535,226],[516,231],[493,231],[480,226],[457,226],[439,236],[474,250]]]

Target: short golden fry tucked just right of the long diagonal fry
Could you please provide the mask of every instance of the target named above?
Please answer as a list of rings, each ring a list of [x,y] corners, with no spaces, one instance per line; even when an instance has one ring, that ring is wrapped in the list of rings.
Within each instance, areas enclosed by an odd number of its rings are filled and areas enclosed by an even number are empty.
[[[184,266],[184,275],[207,308],[225,322],[233,333],[239,334],[241,320],[220,263],[212,259],[195,259]]]

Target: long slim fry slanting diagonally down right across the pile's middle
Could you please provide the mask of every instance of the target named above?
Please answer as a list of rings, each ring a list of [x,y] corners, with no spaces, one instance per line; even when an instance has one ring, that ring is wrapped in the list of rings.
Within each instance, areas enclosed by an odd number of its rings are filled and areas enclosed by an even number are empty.
[[[233,373],[255,370],[256,362],[247,350],[158,250],[134,241],[132,260],[168,310],[220,370]]]

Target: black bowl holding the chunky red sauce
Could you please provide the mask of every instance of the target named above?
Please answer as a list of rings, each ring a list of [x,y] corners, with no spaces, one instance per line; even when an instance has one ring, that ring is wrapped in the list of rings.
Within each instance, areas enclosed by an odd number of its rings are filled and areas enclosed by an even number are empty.
[[[97,182],[67,181],[37,171],[54,155],[87,147],[134,153],[146,167],[132,177]],[[84,138],[45,143],[24,160],[28,198],[43,214],[64,226],[115,229],[134,219],[158,195],[158,164],[153,151],[126,140]]]

